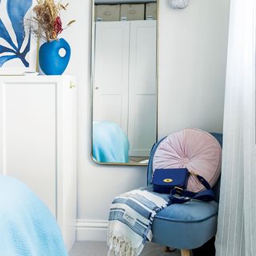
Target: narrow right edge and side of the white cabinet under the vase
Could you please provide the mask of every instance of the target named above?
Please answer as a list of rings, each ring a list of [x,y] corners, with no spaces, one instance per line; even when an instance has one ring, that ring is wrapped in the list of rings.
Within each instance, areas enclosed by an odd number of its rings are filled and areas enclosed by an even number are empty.
[[[72,84],[75,85],[74,78]],[[69,251],[75,242],[77,218],[77,102],[70,78],[63,79],[58,94],[58,225]]]

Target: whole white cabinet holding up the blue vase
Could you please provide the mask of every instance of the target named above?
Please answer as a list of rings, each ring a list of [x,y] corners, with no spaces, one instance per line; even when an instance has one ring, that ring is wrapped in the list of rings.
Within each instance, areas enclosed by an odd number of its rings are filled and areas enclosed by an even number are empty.
[[[71,76],[0,77],[0,174],[26,183],[75,241],[76,90]]]

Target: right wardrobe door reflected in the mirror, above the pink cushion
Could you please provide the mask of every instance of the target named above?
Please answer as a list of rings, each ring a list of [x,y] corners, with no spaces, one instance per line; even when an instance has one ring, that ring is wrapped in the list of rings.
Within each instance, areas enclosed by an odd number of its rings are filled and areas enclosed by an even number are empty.
[[[156,139],[156,24],[130,22],[130,156],[148,156]]]

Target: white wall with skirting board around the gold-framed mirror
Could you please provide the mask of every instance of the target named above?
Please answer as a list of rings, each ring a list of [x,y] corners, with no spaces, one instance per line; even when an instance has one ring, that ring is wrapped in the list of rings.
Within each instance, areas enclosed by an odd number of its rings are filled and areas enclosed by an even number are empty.
[[[160,0],[159,137],[184,127],[221,131],[229,0],[191,0],[172,10]],[[104,239],[115,195],[146,185],[146,167],[98,166],[90,159],[90,1],[74,0],[77,23],[66,73],[78,78],[78,239]],[[65,17],[65,14],[62,15]]]

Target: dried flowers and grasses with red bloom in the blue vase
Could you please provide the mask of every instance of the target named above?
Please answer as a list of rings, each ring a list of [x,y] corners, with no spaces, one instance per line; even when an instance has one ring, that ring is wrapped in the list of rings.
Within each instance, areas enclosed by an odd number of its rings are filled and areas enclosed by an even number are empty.
[[[44,38],[47,42],[58,39],[58,35],[69,27],[75,20],[68,22],[65,28],[62,27],[60,13],[66,10],[67,4],[62,1],[55,3],[54,0],[37,0],[38,5],[34,6],[35,17],[30,20],[30,30],[38,38]]]

